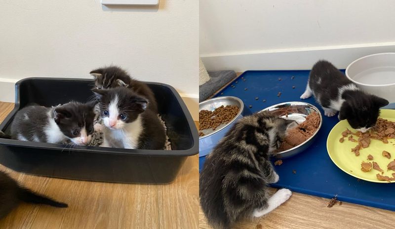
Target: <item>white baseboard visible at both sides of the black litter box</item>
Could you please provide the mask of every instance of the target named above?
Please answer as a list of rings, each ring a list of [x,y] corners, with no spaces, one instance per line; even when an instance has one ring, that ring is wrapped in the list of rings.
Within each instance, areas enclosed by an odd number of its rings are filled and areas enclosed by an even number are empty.
[[[15,82],[18,80],[0,78],[0,101],[15,103]],[[197,85],[196,85],[197,86]],[[199,95],[180,93],[184,103],[187,105],[192,118],[199,120]]]

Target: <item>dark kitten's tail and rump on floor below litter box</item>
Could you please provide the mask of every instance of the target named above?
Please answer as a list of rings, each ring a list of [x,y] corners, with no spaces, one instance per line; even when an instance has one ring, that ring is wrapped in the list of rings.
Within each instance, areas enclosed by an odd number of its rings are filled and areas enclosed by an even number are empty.
[[[0,171],[0,219],[5,217],[19,202],[47,204],[53,207],[65,208],[67,204],[57,202],[20,186],[6,173]]]

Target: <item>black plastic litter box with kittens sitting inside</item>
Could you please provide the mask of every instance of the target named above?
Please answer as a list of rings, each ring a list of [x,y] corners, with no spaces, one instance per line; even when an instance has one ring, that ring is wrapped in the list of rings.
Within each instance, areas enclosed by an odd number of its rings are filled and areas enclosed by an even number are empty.
[[[130,150],[24,142],[0,138],[0,163],[18,172],[40,176],[120,183],[172,182],[188,156],[198,153],[195,123],[176,90],[147,82],[166,122],[171,151]],[[9,133],[16,112],[27,104],[50,107],[70,100],[86,102],[93,80],[79,78],[26,78],[15,84],[15,108],[0,124]]]

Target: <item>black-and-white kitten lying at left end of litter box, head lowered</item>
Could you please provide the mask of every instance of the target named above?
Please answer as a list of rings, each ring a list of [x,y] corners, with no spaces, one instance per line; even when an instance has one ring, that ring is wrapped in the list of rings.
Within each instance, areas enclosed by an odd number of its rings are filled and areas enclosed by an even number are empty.
[[[28,106],[15,115],[11,137],[20,141],[86,145],[93,132],[93,108],[97,102],[70,102],[46,108]]]

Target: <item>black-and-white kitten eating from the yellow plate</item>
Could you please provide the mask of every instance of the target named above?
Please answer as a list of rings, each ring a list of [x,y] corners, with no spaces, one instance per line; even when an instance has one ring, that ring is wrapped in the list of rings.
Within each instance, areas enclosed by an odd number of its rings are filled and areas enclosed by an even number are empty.
[[[301,99],[312,95],[322,106],[325,115],[334,116],[339,111],[339,119],[347,119],[351,127],[366,132],[376,124],[379,108],[389,102],[359,89],[335,66],[325,60],[318,61],[310,72],[306,91]]]

